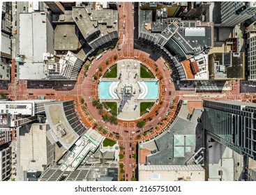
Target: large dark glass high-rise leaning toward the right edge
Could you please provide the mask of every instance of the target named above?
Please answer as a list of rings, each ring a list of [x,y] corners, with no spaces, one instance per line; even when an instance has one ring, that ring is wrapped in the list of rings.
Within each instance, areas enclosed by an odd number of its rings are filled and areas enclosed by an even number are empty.
[[[256,159],[256,104],[204,101],[202,123],[211,138],[240,155]]]

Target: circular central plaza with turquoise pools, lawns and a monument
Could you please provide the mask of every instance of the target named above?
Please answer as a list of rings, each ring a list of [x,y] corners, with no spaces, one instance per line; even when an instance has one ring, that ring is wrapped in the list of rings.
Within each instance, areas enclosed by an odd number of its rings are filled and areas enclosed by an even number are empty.
[[[116,61],[99,79],[98,99],[117,119],[137,120],[158,103],[158,81],[155,73],[141,61]]]

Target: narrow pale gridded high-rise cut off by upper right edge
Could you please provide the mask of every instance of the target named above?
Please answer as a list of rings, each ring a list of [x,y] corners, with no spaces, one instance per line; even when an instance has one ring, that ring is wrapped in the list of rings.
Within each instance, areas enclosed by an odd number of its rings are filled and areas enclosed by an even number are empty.
[[[248,33],[248,80],[256,81],[256,32]]]

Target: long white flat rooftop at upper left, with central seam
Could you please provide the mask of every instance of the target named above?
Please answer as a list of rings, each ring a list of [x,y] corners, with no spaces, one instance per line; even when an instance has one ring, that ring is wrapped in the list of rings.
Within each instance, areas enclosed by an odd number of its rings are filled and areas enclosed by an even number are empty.
[[[43,52],[47,52],[46,14],[20,13],[20,54],[25,56],[20,63],[20,79],[42,79]]]

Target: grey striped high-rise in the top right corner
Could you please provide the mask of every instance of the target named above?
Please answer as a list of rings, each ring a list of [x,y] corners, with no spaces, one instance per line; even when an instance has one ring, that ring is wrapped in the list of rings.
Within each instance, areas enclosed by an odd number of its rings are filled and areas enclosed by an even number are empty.
[[[221,25],[236,26],[241,22],[253,17],[256,13],[255,2],[223,1],[220,8]]]

